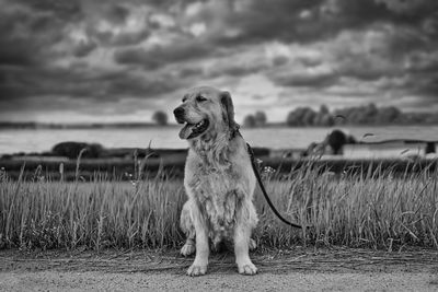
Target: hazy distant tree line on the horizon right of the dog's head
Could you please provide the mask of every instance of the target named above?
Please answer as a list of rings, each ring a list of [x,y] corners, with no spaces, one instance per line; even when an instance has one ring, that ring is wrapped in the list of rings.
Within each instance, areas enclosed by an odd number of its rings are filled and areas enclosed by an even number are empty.
[[[257,112],[243,119],[247,128],[267,124],[265,113]],[[285,120],[289,127],[331,127],[335,125],[383,126],[383,125],[437,125],[438,115],[433,113],[403,113],[395,106],[378,107],[370,103],[362,106],[338,108],[331,112],[326,105],[319,110],[298,107]]]

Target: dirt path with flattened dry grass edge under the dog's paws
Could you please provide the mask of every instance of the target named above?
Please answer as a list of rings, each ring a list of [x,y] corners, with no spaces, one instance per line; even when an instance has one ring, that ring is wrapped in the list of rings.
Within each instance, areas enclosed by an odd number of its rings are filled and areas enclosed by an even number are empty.
[[[231,254],[189,278],[176,252],[0,252],[0,291],[438,291],[438,253],[364,249],[258,252],[260,273],[237,273]]]

